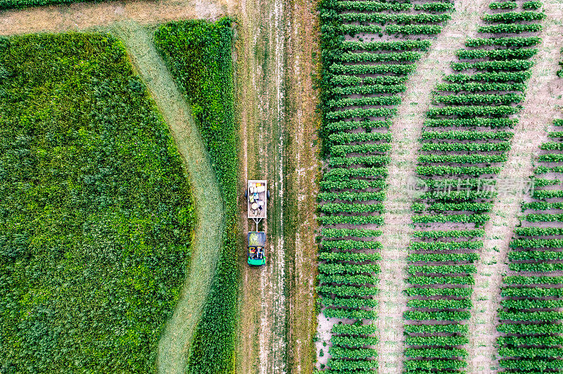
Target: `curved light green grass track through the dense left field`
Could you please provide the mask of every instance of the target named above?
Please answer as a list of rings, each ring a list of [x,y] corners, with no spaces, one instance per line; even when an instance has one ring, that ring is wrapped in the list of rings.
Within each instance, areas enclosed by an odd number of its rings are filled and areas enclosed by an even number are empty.
[[[158,343],[158,373],[184,374],[190,343],[201,318],[221,251],[224,205],[189,105],[160,58],[149,30],[132,21],[111,31],[125,41],[134,67],[144,80],[182,155],[194,193],[196,226],[189,274],[178,304]]]

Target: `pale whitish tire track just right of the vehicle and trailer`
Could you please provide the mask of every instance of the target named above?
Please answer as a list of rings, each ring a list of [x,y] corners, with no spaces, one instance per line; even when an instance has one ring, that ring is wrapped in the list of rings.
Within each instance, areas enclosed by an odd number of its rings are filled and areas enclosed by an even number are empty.
[[[263,10],[266,10],[263,8]],[[268,138],[262,142],[260,153],[267,162],[263,169],[268,172],[268,179],[273,181],[270,219],[267,221],[267,236],[270,240],[270,263],[267,271],[262,271],[262,320],[260,323],[260,374],[286,373],[286,285],[284,253],[284,5],[281,0],[274,0],[271,8],[263,15],[267,19],[267,38],[270,41],[270,82],[263,82],[262,88],[267,95],[264,107],[267,112],[263,118],[270,117],[270,126],[266,130]],[[267,74],[264,74],[267,77]],[[279,140],[279,141],[277,141]]]

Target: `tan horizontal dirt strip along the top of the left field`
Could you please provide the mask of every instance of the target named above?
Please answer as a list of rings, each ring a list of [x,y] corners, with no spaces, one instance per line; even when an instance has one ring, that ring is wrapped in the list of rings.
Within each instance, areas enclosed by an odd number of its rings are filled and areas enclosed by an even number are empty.
[[[139,0],[42,6],[0,12],[0,35],[79,31],[134,20],[154,25],[234,13],[234,0]]]

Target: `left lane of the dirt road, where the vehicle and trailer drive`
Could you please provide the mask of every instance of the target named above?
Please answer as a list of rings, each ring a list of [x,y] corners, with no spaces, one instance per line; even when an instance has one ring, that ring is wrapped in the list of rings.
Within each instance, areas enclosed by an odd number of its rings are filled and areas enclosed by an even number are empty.
[[[267,179],[271,200],[260,228],[267,233],[267,265],[252,269],[241,247],[241,302],[236,366],[241,373],[285,373],[288,304],[286,298],[286,5],[281,0],[241,1],[236,42],[237,106],[246,176]],[[245,162],[245,161],[242,161]],[[245,179],[246,181],[246,179]],[[245,181],[240,181],[243,186]],[[244,188],[244,187],[243,187]],[[243,191],[243,188],[241,191]],[[246,200],[239,200],[241,214]],[[255,229],[241,217],[243,226]],[[245,233],[241,233],[241,241]]]

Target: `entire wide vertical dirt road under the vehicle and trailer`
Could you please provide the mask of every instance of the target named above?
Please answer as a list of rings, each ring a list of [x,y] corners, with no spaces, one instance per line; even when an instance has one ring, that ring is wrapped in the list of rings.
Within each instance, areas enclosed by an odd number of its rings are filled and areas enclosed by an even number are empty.
[[[239,186],[243,191],[246,179],[267,179],[272,196],[268,219],[261,226],[267,232],[267,265],[249,268],[241,250],[239,373],[312,368],[318,172],[311,76],[317,44],[310,42],[314,9],[312,1],[281,0],[241,1],[239,8]],[[239,202],[241,212],[246,212],[243,196]],[[240,227],[242,249],[249,228],[243,214]]]

